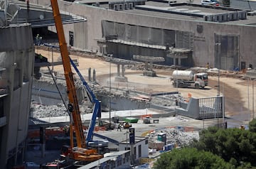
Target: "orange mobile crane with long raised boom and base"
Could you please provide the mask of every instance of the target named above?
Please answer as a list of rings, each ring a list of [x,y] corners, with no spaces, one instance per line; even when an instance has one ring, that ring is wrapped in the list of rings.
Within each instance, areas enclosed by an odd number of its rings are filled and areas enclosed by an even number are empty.
[[[100,155],[95,149],[86,148],[85,136],[82,129],[82,121],[80,116],[80,109],[78,104],[78,98],[75,90],[75,83],[73,79],[73,72],[71,70],[70,58],[68,56],[68,46],[65,42],[65,36],[63,31],[63,24],[60,17],[60,11],[58,9],[57,0],[50,0],[53,8],[53,17],[55,21],[55,27],[58,34],[58,40],[60,45],[60,55],[63,60],[63,68],[65,74],[65,81],[67,84],[68,93],[68,111],[70,111],[70,146],[63,148],[63,156],[73,159],[82,163],[90,163],[98,160],[103,156]],[[74,147],[73,143],[73,128],[75,130],[75,138],[77,146]],[[93,129],[92,129],[93,130]],[[89,133],[89,132],[88,132]]]

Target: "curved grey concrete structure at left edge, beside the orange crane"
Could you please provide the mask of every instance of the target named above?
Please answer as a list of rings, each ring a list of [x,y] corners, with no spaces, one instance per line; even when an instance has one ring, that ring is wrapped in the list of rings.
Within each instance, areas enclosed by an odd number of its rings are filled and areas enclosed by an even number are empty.
[[[28,114],[33,80],[34,47],[31,26],[23,24],[0,28],[0,67],[5,68],[6,89],[4,116],[6,125],[0,128],[0,163],[11,168],[23,161]]]

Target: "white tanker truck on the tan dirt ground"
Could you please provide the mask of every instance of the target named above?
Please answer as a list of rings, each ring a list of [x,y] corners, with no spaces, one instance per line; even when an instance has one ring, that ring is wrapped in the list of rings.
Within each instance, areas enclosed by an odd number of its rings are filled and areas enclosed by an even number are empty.
[[[171,80],[174,87],[204,88],[208,85],[208,74],[205,72],[194,73],[191,70],[174,70]]]

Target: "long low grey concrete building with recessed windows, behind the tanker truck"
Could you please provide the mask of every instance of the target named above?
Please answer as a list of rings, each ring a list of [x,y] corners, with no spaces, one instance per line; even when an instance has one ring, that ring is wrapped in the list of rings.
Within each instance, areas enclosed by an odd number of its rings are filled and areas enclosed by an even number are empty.
[[[31,1],[41,5],[49,2]],[[193,13],[198,10],[207,13],[199,17],[166,12],[168,8],[178,8],[177,5],[170,7],[154,1],[124,11],[110,9],[110,3],[106,7],[58,2],[61,10],[87,18],[87,23],[73,32],[74,46],[82,49],[113,53],[116,58],[126,59],[131,59],[132,55],[150,54],[164,57],[163,64],[172,65],[173,58],[166,57],[166,45],[169,45],[191,50],[191,55],[181,60],[181,66],[205,66],[207,62],[210,67],[226,70],[256,66],[256,51],[252,45],[256,38],[253,11],[179,5],[179,11],[188,8]],[[152,10],[152,6],[160,7]]]

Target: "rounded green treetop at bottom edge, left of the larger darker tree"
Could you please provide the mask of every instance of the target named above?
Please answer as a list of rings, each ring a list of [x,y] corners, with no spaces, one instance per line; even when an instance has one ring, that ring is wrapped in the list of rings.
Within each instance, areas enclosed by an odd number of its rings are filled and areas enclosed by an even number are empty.
[[[181,148],[164,153],[154,163],[154,168],[163,169],[228,169],[235,168],[234,165],[226,163],[219,156],[206,151],[198,151],[196,148]]]

